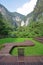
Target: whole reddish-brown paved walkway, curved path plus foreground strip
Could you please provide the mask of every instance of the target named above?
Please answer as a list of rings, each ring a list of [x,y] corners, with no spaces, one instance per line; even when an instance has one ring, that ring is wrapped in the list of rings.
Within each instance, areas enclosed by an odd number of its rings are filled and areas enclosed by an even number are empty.
[[[17,57],[9,54],[12,47],[18,46],[34,46],[31,41],[22,43],[9,43],[0,51],[0,65],[43,65],[43,56],[24,56]]]

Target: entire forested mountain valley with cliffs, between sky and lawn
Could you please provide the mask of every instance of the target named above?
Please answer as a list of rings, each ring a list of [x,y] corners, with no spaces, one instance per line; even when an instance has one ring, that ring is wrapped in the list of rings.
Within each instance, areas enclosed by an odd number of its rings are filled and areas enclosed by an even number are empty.
[[[28,38],[43,36],[43,0],[37,0],[34,11],[27,16],[9,12],[0,5],[0,25],[1,35]]]

